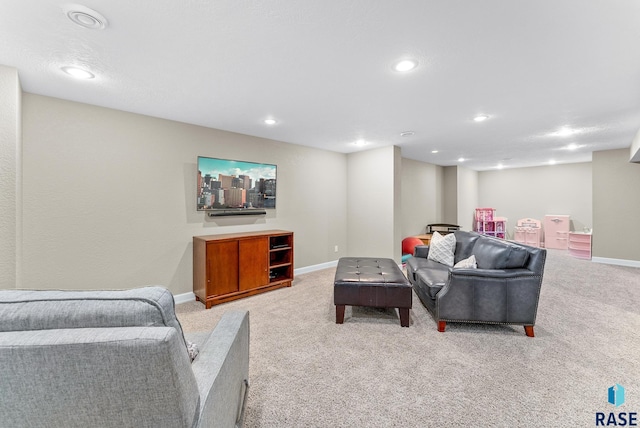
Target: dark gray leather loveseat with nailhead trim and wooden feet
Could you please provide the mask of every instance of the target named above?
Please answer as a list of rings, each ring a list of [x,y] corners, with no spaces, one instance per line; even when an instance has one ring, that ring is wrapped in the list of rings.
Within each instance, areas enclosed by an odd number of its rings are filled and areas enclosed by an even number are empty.
[[[475,256],[477,268],[454,268],[429,260],[417,246],[407,277],[444,332],[447,322],[516,324],[533,337],[546,250],[456,231],[454,263]]]

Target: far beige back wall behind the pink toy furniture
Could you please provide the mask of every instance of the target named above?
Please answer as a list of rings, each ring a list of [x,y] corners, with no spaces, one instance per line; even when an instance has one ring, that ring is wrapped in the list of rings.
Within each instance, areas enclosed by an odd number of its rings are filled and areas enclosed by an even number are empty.
[[[507,217],[508,237],[521,218],[571,216],[572,230],[593,227],[591,163],[514,168],[478,173],[478,204]]]

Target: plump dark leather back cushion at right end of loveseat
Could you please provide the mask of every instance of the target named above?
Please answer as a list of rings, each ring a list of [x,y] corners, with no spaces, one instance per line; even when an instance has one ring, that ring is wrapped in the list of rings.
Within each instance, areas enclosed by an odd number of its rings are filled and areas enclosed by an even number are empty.
[[[518,269],[525,267],[529,252],[526,248],[481,236],[473,246],[478,269]]]

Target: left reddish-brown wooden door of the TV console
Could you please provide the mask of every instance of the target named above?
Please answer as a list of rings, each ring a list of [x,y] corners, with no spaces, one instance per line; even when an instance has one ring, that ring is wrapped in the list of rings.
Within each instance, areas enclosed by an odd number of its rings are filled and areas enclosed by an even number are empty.
[[[207,243],[207,295],[238,291],[238,241]]]

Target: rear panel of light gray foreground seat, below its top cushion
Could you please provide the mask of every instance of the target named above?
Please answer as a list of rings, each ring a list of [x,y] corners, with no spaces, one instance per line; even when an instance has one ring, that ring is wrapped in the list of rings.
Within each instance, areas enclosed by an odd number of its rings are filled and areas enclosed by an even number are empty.
[[[0,379],[3,427],[192,428],[199,414],[171,327],[0,332]]]

